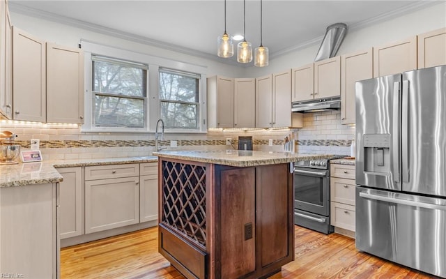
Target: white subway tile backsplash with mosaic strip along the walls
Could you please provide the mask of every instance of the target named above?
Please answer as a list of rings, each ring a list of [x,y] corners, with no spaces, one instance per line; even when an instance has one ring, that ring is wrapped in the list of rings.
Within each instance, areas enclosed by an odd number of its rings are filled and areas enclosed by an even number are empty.
[[[17,144],[29,149],[30,140],[40,140],[45,160],[148,156],[154,151],[153,133],[82,133],[77,125],[1,121],[0,130],[17,134]],[[348,156],[355,129],[341,125],[340,112],[304,115],[304,128],[293,130],[217,130],[206,134],[164,135],[160,146],[167,149],[227,149],[226,138],[237,146],[237,138],[250,135],[254,150],[283,150],[284,138],[292,133],[299,153],[332,153]],[[177,147],[170,147],[171,141]],[[269,146],[272,140],[272,146]]]

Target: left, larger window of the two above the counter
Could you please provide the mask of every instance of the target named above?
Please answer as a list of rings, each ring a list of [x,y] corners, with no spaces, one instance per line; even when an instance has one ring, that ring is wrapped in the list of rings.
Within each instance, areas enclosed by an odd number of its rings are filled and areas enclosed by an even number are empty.
[[[93,126],[146,128],[148,66],[91,56]]]

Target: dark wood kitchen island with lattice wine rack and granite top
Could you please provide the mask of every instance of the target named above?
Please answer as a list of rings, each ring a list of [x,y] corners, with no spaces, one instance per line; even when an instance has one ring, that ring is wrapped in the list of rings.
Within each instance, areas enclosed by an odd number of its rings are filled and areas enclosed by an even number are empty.
[[[162,151],[159,252],[187,278],[266,278],[294,259],[291,163],[324,156]]]

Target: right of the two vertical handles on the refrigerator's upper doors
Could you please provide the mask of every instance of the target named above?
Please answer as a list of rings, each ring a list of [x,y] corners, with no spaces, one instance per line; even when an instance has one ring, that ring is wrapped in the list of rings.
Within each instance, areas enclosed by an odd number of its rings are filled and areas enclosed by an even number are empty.
[[[401,125],[401,157],[403,161],[402,172],[403,172],[403,182],[409,182],[409,150],[408,150],[408,123],[409,123],[409,81],[403,80],[403,107],[402,107],[402,125]]]

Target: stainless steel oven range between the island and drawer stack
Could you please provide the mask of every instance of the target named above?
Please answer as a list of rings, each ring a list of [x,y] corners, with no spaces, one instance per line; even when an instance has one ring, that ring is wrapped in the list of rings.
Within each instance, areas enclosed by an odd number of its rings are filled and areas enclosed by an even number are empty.
[[[294,223],[324,234],[330,225],[330,164],[328,160],[299,161],[294,165]]]

